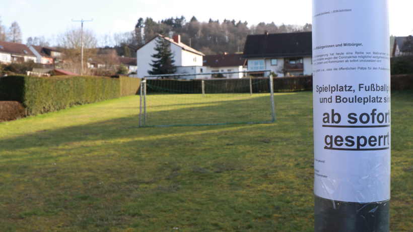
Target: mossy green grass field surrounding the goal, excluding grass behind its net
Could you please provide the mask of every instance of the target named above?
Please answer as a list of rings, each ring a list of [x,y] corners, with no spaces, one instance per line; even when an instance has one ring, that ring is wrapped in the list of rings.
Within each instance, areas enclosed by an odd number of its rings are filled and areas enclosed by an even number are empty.
[[[312,92],[275,99],[273,124],[139,128],[139,96],[0,123],[0,231],[313,231]],[[412,119],[393,92],[392,231],[413,227]]]

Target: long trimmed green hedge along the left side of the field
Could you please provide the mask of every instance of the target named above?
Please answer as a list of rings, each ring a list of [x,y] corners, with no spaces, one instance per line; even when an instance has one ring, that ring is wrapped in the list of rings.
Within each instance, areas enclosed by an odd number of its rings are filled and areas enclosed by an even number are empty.
[[[19,101],[27,115],[35,115],[94,103],[120,96],[116,78],[89,76],[32,77],[8,76],[0,79],[0,101]]]

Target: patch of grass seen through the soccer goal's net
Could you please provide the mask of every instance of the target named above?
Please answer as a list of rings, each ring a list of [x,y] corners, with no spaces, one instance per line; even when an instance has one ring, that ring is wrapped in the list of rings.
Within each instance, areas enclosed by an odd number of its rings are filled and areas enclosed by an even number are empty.
[[[144,126],[272,122],[269,93],[149,94]]]

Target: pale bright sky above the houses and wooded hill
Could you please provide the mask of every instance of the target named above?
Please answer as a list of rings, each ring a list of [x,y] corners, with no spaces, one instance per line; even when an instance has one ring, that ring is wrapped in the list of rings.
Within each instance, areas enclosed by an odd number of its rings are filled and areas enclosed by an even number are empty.
[[[389,0],[390,34],[413,34],[413,20],[408,20],[411,10],[406,0]],[[270,4],[269,4],[270,3]],[[272,5],[272,6],[271,6]],[[402,7],[405,6],[405,7]],[[188,0],[0,0],[0,20],[9,28],[16,21],[23,33],[23,43],[28,37],[45,36],[51,43],[59,33],[80,27],[72,20],[85,22],[84,28],[95,32],[101,39],[105,34],[132,31],[139,18],[151,17],[155,21],[192,16],[200,22],[209,19],[247,21],[248,26],[260,22],[305,25],[311,23],[311,0],[295,1],[188,1]]]

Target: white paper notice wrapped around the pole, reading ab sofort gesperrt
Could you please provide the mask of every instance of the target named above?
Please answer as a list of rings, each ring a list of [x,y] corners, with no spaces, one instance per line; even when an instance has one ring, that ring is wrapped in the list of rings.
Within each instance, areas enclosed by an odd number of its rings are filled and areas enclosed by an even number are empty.
[[[390,199],[387,0],[313,0],[314,193]]]

